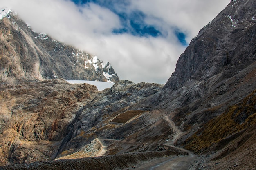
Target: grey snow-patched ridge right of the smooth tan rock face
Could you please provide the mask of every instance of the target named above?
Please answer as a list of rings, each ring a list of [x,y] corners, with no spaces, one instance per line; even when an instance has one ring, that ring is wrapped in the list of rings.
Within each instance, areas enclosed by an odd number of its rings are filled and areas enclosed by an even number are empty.
[[[97,80],[102,82],[117,82],[119,80],[109,62],[103,62],[97,56],[67,46],[58,40],[52,40],[44,33],[34,33],[34,36],[51,56],[52,61],[42,62],[45,73],[47,70],[53,70],[54,77],[67,80]],[[49,66],[49,62],[53,62],[53,68]],[[54,77],[48,76],[47,78]]]

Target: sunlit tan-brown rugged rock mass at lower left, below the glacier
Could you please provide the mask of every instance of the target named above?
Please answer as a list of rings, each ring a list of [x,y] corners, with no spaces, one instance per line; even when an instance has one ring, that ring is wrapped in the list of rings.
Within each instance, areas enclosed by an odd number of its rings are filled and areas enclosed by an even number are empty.
[[[67,126],[97,92],[64,79],[0,84],[1,164],[54,157]]]

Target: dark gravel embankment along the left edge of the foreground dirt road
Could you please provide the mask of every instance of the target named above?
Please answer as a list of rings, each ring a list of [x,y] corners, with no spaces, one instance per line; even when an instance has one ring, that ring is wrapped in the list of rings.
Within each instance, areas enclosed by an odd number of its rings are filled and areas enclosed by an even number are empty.
[[[172,148],[162,152],[137,152],[83,159],[64,159],[57,161],[34,162],[30,164],[12,164],[0,167],[0,170],[118,170],[137,165],[143,161],[165,157],[166,155],[188,155],[187,152]]]

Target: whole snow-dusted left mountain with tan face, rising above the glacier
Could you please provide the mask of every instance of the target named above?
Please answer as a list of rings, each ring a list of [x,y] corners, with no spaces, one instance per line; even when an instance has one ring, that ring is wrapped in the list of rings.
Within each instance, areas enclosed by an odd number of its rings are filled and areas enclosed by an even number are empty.
[[[44,80],[119,80],[109,62],[101,61],[44,33],[32,31],[11,10],[2,9],[0,20],[0,76],[15,79]]]

